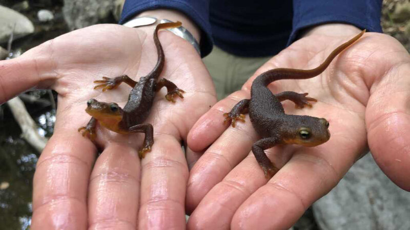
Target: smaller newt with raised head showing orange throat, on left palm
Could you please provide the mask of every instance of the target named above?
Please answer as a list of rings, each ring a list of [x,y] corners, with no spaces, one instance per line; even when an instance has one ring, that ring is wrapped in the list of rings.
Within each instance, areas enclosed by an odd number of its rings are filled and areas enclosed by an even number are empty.
[[[78,129],[79,132],[83,132],[83,136],[87,135],[91,140],[94,140],[96,136],[95,127],[98,121],[101,126],[117,133],[144,132],[144,144],[139,149],[138,155],[140,158],[144,158],[145,154],[151,151],[151,147],[154,144],[153,127],[151,124],[143,122],[149,115],[156,92],[164,86],[167,87],[168,92],[165,98],[171,102],[175,102],[174,96],[183,98],[182,94],[185,93],[185,91],[179,89],[174,83],[165,78],[157,81],[165,63],[165,56],[158,39],[158,31],[179,26],[181,26],[179,21],[162,23],[156,26],[154,43],[158,53],[158,61],[147,76],[141,77],[139,81],[134,81],[127,75],[116,78],[103,77],[103,80],[94,81],[94,83],[98,84],[94,89],[102,88],[103,91],[114,89],[122,82],[125,82],[132,87],[132,90],[124,108],[120,108],[116,103],[105,103],[90,99],[87,102],[86,112],[92,118],[87,126]]]

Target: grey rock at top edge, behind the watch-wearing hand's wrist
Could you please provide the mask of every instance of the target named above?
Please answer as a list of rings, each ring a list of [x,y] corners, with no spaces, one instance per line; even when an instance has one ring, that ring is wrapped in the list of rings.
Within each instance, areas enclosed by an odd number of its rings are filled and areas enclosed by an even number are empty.
[[[70,30],[115,22],[112,0],[64,0],[63,14]]]

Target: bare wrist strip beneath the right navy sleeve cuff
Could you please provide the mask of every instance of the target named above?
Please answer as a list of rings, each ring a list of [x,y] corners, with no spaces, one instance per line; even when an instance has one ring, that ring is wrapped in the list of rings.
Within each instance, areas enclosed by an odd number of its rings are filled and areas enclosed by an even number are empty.
[[[310,28],[306,28],[301,31],[299,38],[307,37],[310,35],[326,35],[326,36],[348,36],[355,35],[361,32],[361,29],[341,23],[329,23],[322,24]]]

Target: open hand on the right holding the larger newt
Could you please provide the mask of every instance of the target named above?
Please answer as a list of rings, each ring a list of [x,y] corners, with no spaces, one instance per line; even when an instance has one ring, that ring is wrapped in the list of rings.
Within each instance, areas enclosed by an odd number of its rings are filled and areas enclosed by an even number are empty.
[[[286,113],[325,118],[331,139],[317,147],[277,146],[265,150],[281,168],[268,182],[251,151],[258,140],[249,116],[236,128],[222,125],[224,112],[250,98],[252,81],[277,67],[317,67],[341,43],[360,32],[347,25],[319,26],[273,57],[226,99],[204,114],[188,135],[188,145],[201,151],[190,172],[188,228],[287,229],[309,206],[334,188],[370,147],[383,170],[410,191],[408,103],[410,56],[394,38],[366,33],[343,51],[321,75],[308,80],[280,80],[269,86],[276,94],[309,93],[313,108]]]

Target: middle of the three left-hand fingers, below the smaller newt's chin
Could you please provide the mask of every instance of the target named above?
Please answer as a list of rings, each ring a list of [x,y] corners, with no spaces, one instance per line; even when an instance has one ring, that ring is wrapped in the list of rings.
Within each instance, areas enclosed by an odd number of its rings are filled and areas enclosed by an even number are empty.
[[[123,143],[108,144],[90,178],[89,229],[136,229],[139,182],[137,151]]]

